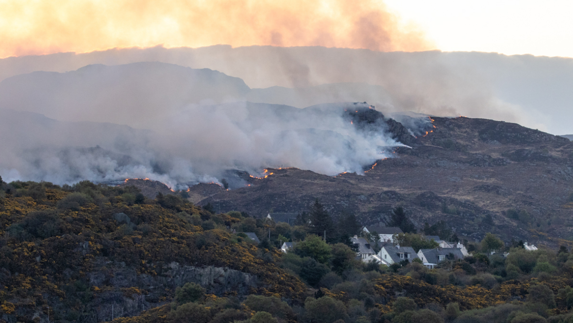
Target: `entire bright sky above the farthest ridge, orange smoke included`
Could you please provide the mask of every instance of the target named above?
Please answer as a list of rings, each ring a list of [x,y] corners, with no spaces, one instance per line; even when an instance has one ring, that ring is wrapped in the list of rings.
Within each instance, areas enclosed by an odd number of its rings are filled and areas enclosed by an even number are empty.
[[[570,1],[0,0],[0,6],[0,57],[158,44],[573,57]]]

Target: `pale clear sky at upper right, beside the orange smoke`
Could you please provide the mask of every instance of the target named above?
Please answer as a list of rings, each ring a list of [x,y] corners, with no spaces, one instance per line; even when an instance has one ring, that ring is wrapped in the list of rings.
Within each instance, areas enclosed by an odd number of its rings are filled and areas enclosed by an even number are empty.
[[[443,51],[573,57],[573,2],[386,0]]]

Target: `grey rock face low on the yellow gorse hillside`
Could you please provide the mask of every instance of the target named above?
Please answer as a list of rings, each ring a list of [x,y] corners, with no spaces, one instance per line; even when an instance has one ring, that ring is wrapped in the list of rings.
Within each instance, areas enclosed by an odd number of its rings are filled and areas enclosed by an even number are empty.
[[[172,262],[160,268],[159,273],[138,274],[124,263],[99,263],[99,269],[88,273],[92,290],[99,290],[92,313],[83,322],[109,321],[112,317],[135,316],[146,309],[171,301],[176,287],[187,282],[205,287],[208,294],[246,295],[259,284],[257,277],[224,267],[182,266]],[[84,314],[85,316],[85,314]]]

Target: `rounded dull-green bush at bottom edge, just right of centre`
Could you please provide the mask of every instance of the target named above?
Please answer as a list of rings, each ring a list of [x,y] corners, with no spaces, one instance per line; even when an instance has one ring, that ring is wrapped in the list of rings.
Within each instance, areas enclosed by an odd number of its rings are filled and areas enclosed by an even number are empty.
[[[327,296],[319,299],[308,297],[304,302],[304,309],[308,321],[313,323],[332,323],[339,319],[348,319],[344,303]]]

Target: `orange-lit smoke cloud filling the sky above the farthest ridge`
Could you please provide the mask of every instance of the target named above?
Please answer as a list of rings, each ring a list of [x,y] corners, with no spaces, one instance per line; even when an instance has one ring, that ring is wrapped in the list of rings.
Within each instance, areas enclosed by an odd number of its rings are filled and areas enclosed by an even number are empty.
[[[380,0],[0,0],[0,57],[228,44],[433,49]]]

